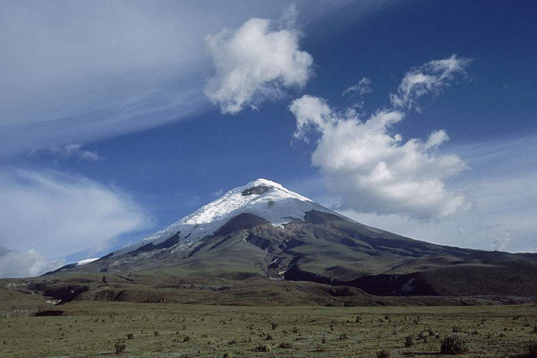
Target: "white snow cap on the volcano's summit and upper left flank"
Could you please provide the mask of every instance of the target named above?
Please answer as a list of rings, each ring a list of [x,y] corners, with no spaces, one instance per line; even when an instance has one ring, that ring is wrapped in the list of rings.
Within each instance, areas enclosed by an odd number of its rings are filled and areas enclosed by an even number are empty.
[[[281,226],[294,218],[302,220],[305,213],[311,209],[332,212],[296,192],[287,190],[279,183],[257,179],[226,192],[217,200],[139,243],[115,251],[114,256],[136,250],[148,243],[162,243],[177,233],[179,243],[195,243],[214,234],[230,219],[243,213],[262,217],[275,226]]]

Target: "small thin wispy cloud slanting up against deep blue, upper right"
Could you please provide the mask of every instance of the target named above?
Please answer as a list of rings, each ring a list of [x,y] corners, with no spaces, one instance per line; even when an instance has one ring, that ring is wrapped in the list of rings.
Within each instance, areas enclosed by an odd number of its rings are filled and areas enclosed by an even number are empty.
[[[397,93],[390,94],[391,104],[400,109],[416,109],[419,98],[432,94],[438,95],[453,81],[456,73],[465,73],[470,60],[456,55],[443,60],[430,61],[419,67],[414,67],[405,73],[405,77],[397,88]]]

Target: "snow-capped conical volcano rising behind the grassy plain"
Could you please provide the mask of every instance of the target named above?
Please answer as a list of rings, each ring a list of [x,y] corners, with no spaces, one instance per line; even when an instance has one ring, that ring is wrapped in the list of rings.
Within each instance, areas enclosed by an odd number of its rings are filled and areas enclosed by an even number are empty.
[[[266,179],[226,192],[139,243],[49,274],[107,272],[109,282],[121,285],[114,292],[99,277],[95,297],[122,300],[128,284],[138,300],[141,276],[134,273],[144,271],[176,280],[166,287],[181,286],[181,277],[264,277],[379,295],[537,296],[537,255],[412,240],[357,223]],[[59,292],[74,296],[72,286]]]

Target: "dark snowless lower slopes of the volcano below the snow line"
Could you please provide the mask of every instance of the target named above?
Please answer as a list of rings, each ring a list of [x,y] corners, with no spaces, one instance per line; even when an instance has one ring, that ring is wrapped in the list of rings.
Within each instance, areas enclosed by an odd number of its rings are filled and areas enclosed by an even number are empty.
[[[536,254],[424,243],[316,210],[285,226],[243,213],[197,243],[171,236],[60,272],[145,270],[313,281],[377,295],[537,296]]]

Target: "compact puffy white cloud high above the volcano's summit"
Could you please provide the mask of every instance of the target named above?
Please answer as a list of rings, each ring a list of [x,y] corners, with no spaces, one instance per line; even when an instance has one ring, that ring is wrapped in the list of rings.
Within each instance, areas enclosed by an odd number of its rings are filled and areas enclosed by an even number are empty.
[[[208,36],[216,73],[205,94],[223,114],[236,114],[302,88],[311,77],[313,58],[300,50],[299,38],[293,7],[282,21],[252,18],[237,30]]]

